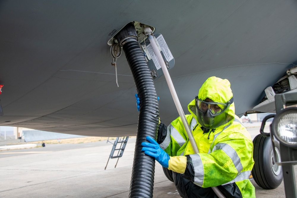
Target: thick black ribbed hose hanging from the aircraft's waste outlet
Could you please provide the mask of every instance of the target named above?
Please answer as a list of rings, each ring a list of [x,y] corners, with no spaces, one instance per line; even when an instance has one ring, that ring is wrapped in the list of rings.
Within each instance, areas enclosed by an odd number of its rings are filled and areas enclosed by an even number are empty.
[[[126,41],[123,50],[141,98],[129,197],[153,197],[155,159],[141,151],[141,142],[147,141],[146,136],[156,140],[159,126],[157,94],[136,38]]]

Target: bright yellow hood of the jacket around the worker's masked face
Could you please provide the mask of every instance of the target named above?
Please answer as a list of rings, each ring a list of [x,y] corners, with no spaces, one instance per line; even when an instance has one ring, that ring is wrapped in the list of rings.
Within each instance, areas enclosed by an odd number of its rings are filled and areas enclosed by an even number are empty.
[[[226,103],[233,97],[232,90],[230,88],[230,82],[227,79],[221,79],[215,76],[209,77],[201,86],[199,92],[198,92],[198,98],[201,100],[205,100],[206,98],[209,98],[213,100],[214,102],[222,102]],[[197,120],[196,117],[196,107],[195,107],[195,99],[192,100],[188,104],[188,110],[189,112],[194,116],[194,118]],[[235,105],[234,102],[230,104],[229,111],[228,111],[228,117],[221,126],[218,128],[221,128],[222,126],[228,125],[230,122],[234,120],[235,117]]]

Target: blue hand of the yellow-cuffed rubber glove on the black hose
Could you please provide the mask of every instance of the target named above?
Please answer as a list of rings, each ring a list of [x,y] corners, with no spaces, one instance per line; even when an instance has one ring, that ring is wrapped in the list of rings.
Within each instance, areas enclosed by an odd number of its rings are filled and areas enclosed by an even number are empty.
[[[170,159],[169,155],[163,151],[163,149],[159,146],[159,144],[149,136],[146,136],[146,140],[149,142],[142,142],[141,145],[143,146],[141,151],[148,156],[154,157],[162,167],[168,168],[168,161]]]

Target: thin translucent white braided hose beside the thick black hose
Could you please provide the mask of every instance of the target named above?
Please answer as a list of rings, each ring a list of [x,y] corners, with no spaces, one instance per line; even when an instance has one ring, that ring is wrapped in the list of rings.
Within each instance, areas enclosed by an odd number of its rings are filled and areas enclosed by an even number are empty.
[[[169,72],[168,72],[168,70],[167,70],[167,67],[166,67],[166,65],[165,65],[165,62],[164,62],[164,60],[163,60],[163,58],[162,58],[161,53],[159,52],[157,43],[155,42],[154,37],[153,37],[151,34],[149,35],[149,41],[150,41],[151,46],[152,46],[152,48],[153,48],[153,50],[154,50],[154,52],[155,52],[155,54],[156,54],[156,56],[157,56],[157,59],[158,59],[160,65],[161,65],[162,71],[163,71],[163,73],[164,73],[165,79],[166,79],[166,81],[167,81],[169,90],[170,90],[171,95],[172,95],[172,98],[173,98],[173,101],[174,101],[174,103],[175,103],[175,106],[176,106],[176,109],[177,109],[177,111],[178,111],[178,114],[179,114],[179,116],[181,117],[181,120],[182,120],[182,122],[183,122],[183,124],[184,124],[184,127],[185,127],[185,129],[186,129],[187,135],[188,135],[188,137],[189,137],[189,141],[190,141],[190,143],[191,143],[191,145],[192,145],[192,148],[193,148],[193,150],[194,150],[195,153],[199,153],[198,147],[197,147],[197,145],[196,145],[196,142],[195,142],[195,139],[194,139],[194,137],[193,137],[193,134],[192,134],[192,132],[191,132],[191,130],[190,130],[189,123],[188,123],[188,121],[187,121],[187,119],[186,119],[186,116],[185,116],[185,114],[184,114],[184,111],[183,111],[183,109],[181,108],[181,103],[180,103],[179,100],[178,100],[178,97],[177,97],[175,88],[174,88],[174,86],[173,86],[173,83],[172,83],[171,77],[170,77],[170,75],[169,75]],[[141,99],[141,100],[142,100],[142,99]],[[225,196],[219,191],[219,189],[218,189],[217,187],[211,187],[211,188],[213,189],[214,193],[215,193],[219,198],[225,198]]]

